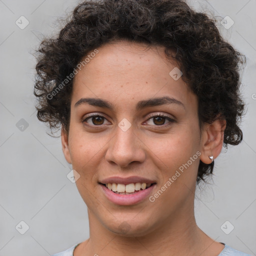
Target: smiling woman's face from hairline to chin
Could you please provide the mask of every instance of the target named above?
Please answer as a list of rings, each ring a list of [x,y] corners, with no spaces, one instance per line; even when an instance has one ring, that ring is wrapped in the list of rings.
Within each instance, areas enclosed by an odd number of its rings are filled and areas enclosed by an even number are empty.
[[[177,69],[169,74],[177,67],[162,47],[122,41],[99,47],[74,77],[63,152],[80,175],[89,219],[103,229],[143,235],[193,214],[197,97]],[[148,187],[118,194],[104,183],[118,183],[120,191]]]

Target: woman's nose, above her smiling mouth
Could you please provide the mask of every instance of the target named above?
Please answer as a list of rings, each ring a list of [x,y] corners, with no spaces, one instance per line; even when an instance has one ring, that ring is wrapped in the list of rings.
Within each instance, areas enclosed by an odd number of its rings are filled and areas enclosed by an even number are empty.
[[[131,162],[143,162],[145,160],[144,144],[133,127],[123,131],[119,126],[109,141],[105,159],[119,167],[128,167]]]

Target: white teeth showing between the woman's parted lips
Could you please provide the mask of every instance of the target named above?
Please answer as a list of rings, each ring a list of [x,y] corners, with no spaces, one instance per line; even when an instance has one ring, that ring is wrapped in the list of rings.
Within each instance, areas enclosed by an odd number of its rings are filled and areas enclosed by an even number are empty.
[[[135,182],[135,183],[129,183],[129,184],[121,184],[121,183],[100,183],[100,184],[104,185],[107,189],[109,189],[110,191],[116,194],[134,194],[141,190],[147,189],[156,183],[155,182],[153,183]]]

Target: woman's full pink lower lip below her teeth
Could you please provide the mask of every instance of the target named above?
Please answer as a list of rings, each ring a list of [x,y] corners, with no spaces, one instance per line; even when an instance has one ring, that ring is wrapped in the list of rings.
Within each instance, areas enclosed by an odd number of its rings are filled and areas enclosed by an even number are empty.
[[[100,184],[105,196],[113,203],[118,205],[131,205],[136,204],[144,200],[152,191],[155,184],[143,189],[139,190],[134,194],[117,194],[112,190],[109,190],[105,185]]]

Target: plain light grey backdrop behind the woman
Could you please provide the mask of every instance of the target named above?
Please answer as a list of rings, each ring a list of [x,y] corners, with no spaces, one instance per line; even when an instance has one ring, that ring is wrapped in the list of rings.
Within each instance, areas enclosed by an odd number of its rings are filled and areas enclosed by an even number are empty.
[[[247,57],[242,78],[247,103],[241,124],[244,140],[223,148],[215,160],[212,184],[197,189],[196,221],[213,239],[256,255],[256,1],[189,2],[217,15],[223,36]],[[77,3],[0,0],[0,256],[50,255],[89,235],[86,205],[66,177],[71,165],[62,155],[60,138],[47,135],[46,126],[37,120],[32,94],[31,53],[43,35],[56,31],[56,19]],[[21,15],[29,21],[24,29],[15,24]],[[226,15],[234,21],[229,29],[220,23]],[[29,226],[24,234],[15,228],[21,220]],[[229,234],[220,228],[227,220],[234,226]],[[24,224],[18,226],[24,231]],[[230,229],[230,224],[224,227]]]

